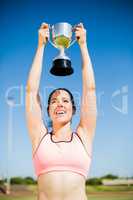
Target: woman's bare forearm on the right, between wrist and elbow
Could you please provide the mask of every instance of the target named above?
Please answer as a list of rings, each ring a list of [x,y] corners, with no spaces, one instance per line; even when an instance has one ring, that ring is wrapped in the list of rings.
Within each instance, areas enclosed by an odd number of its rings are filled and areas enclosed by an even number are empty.
[[[89,56],[87,44],[80,45],[81,55],[82,55],[82,79],[83,88],[95,89],[95,78],[94,71]]]

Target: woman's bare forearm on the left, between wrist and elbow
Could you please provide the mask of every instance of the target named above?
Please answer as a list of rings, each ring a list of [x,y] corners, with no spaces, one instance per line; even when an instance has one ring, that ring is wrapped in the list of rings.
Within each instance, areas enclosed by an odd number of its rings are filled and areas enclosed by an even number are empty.
[[[44,45],[39,46],[36,50],[36,54],[31,66],[31,70],[27,82],[27,90],[37,92],[39,90],[42,62],[43,62]]]

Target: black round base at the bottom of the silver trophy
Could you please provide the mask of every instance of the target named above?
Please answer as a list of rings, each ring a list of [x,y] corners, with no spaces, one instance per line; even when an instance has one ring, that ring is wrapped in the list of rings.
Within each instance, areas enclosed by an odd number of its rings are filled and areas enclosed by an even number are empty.
[[[55,76],[67,76],[73,73],[71,61],[68,59],[55,59],[50,73]]]

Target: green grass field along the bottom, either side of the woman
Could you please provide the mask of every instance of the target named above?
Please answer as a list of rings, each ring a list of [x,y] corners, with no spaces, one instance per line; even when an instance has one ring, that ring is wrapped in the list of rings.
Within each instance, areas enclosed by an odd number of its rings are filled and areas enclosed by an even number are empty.
[[[37,200],[36,186],[28,186],[27,191],[14,189],[10,196],[0,194],[0,200]],[[88,200],[133,200],[133,186],[87,186],[86,194]]]

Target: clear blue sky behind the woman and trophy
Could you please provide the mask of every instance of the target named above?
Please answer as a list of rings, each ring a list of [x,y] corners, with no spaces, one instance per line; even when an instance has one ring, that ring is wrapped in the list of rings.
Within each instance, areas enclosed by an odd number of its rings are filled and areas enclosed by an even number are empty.
[[[25,87],[37,49],[42,22],[53,25],[82,22],[96,81],[97,126],[93,159],[88,176],[112,173],[133,176],[133,3],[132,1],[0,1],[0,177],[33,176],[31,143],[25,120]],[[74,37],[74,36],[73,36]],[[46,123],[47,97],[52,89],[66,87],[75,98],[79,122],[82,94],[81,54],[77,43],[67,49],[74,73],[50,74],[58,50],[47,44],[44,51],[40,92]],[[14,106],[7,102],[12,97]],[[9,138],[9,134],[12,135]],[[9,138],[9,141],[8,141]],[[8,143],[10,161],[8,162]]]

